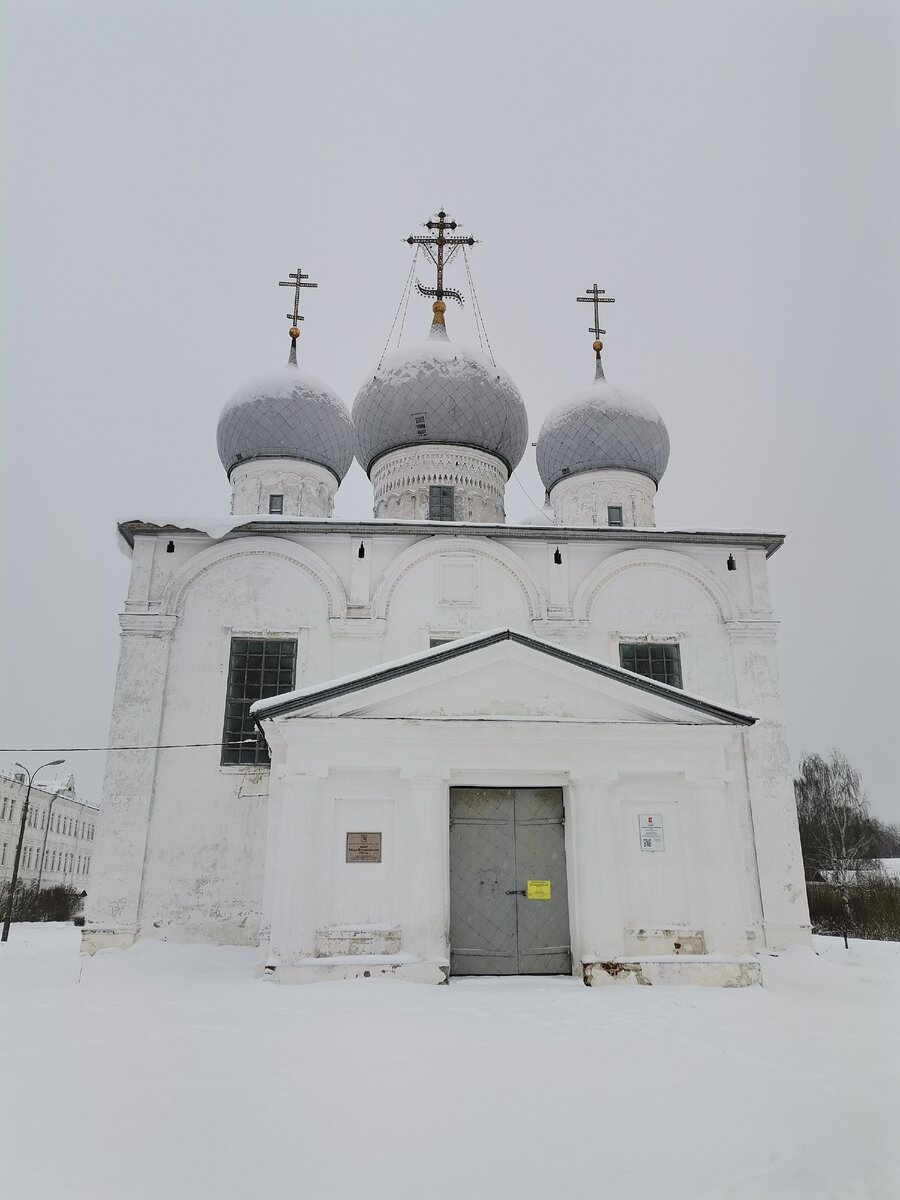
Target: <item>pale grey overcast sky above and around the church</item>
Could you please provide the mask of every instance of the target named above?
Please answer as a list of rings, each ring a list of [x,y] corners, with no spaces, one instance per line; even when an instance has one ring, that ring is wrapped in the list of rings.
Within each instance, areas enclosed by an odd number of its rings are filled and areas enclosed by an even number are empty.
[[[616,296],[607,377],[672,439],[659,524],[787,534],[770,566],[793,758],[840,746],[900,820],[898,13],[7,0],[0,744],[106,744],[115,520],[227,511],[216,421],[284,361],[276,284],[298,262],[319,283],[302,364],[352,403],[403,238],[445,205],[481,240],[532,439],[593,373],[575,296]],[[475,343],[470,306],[448,317]],[[407,336],[428,318],[414,298]],[[540,504],[533,450],[517,476]],[[368,497],[354,467],[338,515],[371,516]],[[508,509],[534,511],[516,482]],[[96,800],[103,756],[67,762]]]

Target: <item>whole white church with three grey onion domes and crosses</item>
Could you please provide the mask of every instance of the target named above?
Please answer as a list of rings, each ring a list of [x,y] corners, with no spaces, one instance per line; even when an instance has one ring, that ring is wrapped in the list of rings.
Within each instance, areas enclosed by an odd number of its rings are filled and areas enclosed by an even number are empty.
[[[218,424],[232,517],[125,521],[131,582],[84,948],[258,947],[260,974],[758,982],[808,944],[767,559],[780,534],[658,529],[668,433],[594,379],[505,523],[511,378],[427,338],[348,412],[290,359]],[[583,298],[594,302],[596,286]],[[373,516],[331,516],[358,457]]]

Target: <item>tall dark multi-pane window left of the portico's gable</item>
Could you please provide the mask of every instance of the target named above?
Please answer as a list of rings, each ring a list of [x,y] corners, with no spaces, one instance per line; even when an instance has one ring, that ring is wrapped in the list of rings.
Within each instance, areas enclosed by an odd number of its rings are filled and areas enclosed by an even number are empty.
[[[265,738],[250,715],[257,700],[294,686],[296,640],[233,637],[222,732],[222,763],[269,763]]]

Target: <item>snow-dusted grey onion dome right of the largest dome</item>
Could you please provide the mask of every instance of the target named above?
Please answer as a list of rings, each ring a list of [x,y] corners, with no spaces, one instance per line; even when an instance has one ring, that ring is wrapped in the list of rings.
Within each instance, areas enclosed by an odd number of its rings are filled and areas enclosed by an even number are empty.
[[[635,470],[659,484],[668,430],[649,401],[595,379],[547,416],[538,436],[538,470],[550,491],[586,470]]]

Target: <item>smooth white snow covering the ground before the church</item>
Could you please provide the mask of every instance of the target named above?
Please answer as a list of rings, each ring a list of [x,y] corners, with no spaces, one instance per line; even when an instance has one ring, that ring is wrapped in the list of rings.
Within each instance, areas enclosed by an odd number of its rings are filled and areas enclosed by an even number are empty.
[[[895,1200],[900,944],[766,986],[277,986],[252,950],[0,947],[0,1194]]]

